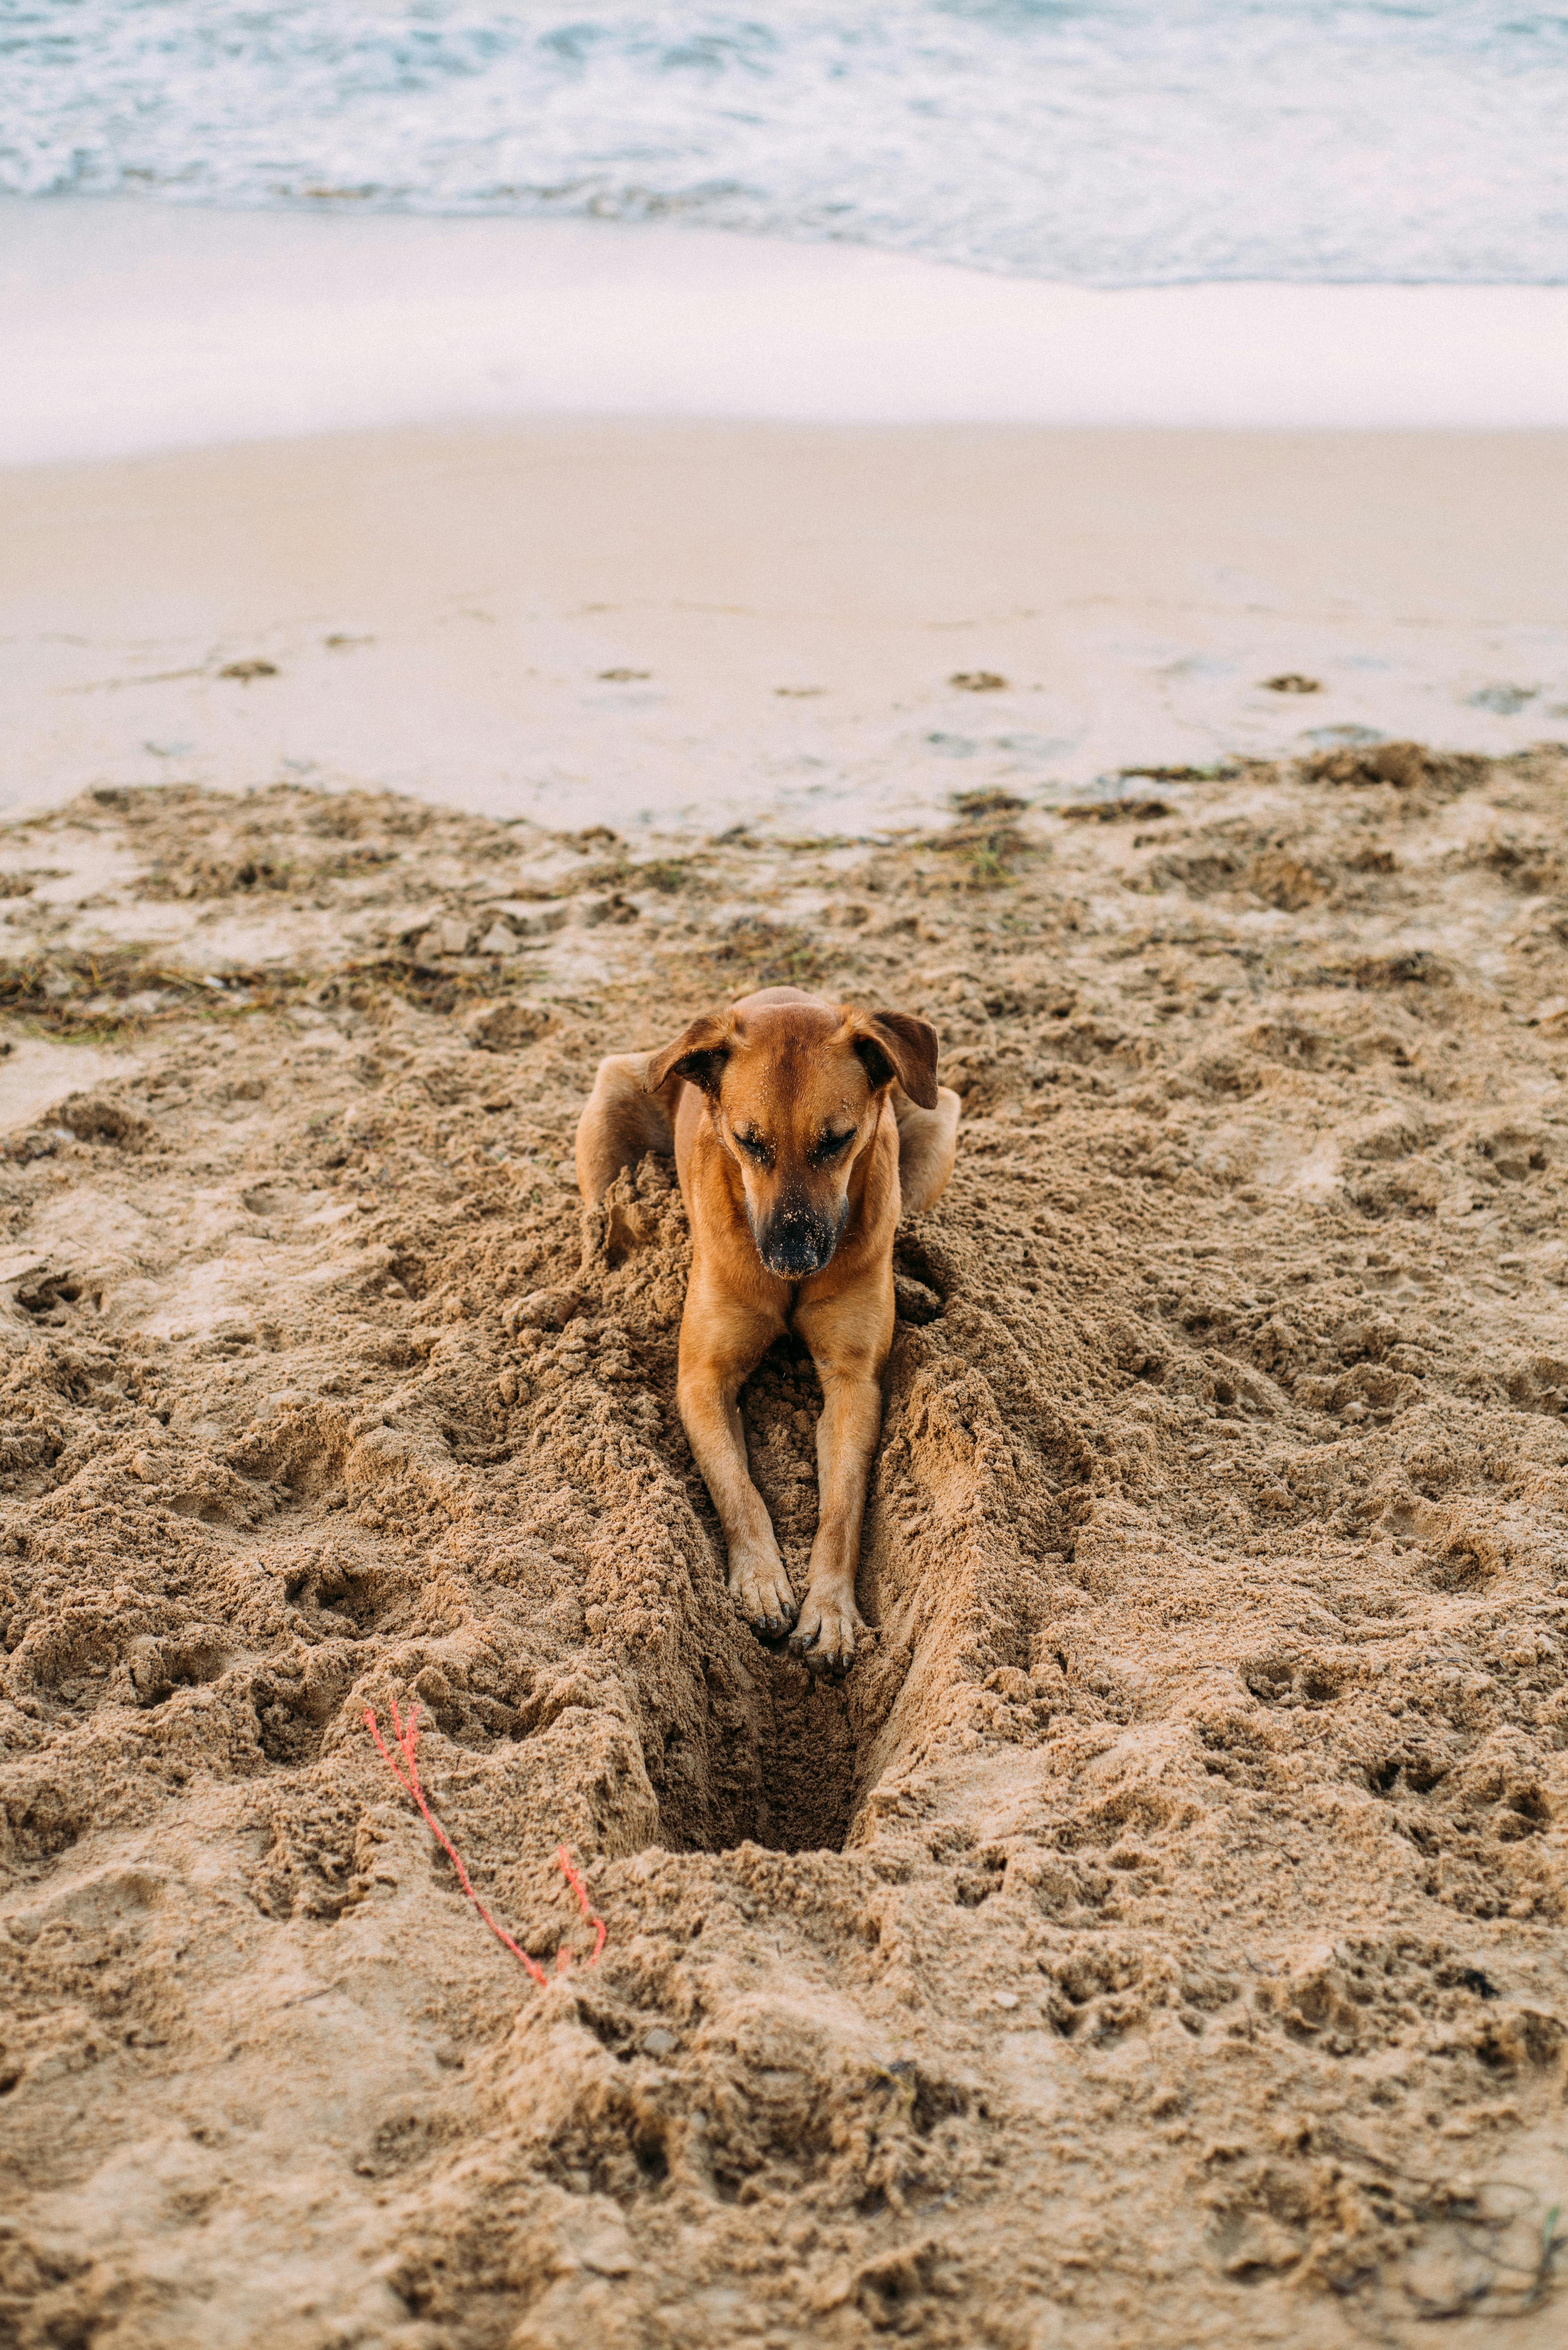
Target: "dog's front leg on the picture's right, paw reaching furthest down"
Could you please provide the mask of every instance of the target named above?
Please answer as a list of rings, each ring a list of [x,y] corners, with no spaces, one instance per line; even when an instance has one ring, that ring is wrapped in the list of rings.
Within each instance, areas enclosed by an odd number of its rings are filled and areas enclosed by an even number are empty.
[[[865,1480],[882,1434],[882,1365],[893,1337],[893,1281],[872,1297],[839,1297],[797,1311],[795,1328],[811,1347],[823,1382],[816,1424],[818,1520],[811,1577],[790,1647],[813,1671],[839,1673],[865,1629],[856,1607]]]

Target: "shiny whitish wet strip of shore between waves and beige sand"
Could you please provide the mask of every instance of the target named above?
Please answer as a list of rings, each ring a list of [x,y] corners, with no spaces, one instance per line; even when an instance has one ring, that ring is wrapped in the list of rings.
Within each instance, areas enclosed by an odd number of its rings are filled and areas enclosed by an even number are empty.
[[[1568,287],[1098,291],[583,221],[0,200],[0,463],[505,416],[1568,425]]]

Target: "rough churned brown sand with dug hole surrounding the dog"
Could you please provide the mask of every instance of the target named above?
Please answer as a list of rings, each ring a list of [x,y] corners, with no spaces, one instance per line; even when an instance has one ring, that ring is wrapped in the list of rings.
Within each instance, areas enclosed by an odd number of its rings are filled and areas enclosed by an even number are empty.
[[[0,839],[0,2334],[1561,2338],[1568,759],[933,839]],[[736,1619],[599,1053],[931,1018],[844,1685]],[[31,1107],[28,1107],[31,1104]],[[799,1572],[816,1382],[755,1377]],[[484,1934],[378,1762],[416,1701]]]

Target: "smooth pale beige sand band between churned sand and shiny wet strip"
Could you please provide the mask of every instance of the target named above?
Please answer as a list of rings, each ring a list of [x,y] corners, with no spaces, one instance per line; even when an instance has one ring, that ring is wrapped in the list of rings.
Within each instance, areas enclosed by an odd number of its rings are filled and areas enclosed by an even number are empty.
[[[19,468],[0,804],[849,822],[1342,726],[1512,750],[1568,731],[1566,540],[1563,432],[630,421]]]

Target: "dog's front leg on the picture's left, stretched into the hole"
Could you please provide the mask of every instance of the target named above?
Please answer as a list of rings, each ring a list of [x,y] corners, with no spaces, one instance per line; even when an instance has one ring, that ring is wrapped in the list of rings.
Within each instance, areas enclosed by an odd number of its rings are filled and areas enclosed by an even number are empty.
[[[679,1337],[679,1415],[729,1546],[729,1589],[748,1624],[776,1638],[797,1617],[773,1520],[752,1485],[741,1426],[741,1386],[778,1323],[733,1300],[686,1292]]]

